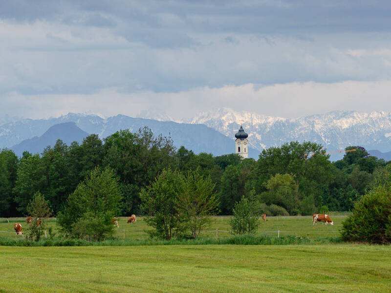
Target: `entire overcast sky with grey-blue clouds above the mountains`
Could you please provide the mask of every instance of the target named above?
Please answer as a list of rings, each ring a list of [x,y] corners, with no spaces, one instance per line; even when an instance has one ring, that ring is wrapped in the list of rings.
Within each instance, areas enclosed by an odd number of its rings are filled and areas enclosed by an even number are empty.
[[[391,112],[391,2],[0,1],[0,119]]]

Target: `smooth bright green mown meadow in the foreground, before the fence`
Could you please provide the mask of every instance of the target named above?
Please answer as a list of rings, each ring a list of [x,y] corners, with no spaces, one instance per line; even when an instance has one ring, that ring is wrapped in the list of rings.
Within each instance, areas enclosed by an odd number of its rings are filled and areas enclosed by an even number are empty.
[[[391,246],[0,247],[0,292],[389,292]]]

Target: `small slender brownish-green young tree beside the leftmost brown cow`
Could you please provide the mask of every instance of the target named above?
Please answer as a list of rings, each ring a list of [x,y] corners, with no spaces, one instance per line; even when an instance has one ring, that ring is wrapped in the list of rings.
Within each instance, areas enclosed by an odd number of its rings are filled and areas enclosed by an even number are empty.
[[[28,238],[39,241],[47,229],[46,219],[52,214],[49,201],[40,192],[36,192],[27,205],[27,214],[33,218],[27,229]]]

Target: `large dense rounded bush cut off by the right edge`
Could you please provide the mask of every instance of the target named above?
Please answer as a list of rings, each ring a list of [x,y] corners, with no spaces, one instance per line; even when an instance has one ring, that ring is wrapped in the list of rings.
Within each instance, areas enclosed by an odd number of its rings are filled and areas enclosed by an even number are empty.
[[[391,243],[391,192],[379,186],[364,195],[342,223],[344,241]]]

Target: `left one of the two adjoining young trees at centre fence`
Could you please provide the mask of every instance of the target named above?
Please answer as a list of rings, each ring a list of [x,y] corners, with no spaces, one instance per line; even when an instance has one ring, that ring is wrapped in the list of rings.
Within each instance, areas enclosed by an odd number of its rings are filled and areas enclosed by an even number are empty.
[[[183,234],[183,219],[176,200],[183,193],[184,178],[181,173],[164,169],[159,176],[140,193],[142,209],[147,213],[147,224],[153,228],[152,237],[170,240]]]

